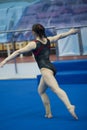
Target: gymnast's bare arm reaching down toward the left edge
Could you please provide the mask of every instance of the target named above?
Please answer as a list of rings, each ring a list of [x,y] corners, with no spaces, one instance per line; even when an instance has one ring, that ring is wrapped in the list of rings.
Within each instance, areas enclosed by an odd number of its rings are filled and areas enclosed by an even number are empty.
[[[6,59],[4,59],[0,63],[0,67],[3,67],[3,65],[5,65],[8,61],[10,61],[10,60],[14,59],[15,57],[17,57],[19,54],[31,51],[32,49],[35,49],[35,48],[36,48],[35,42],[29,42],[27,46],[13,52],[10,56],[8,56]]]

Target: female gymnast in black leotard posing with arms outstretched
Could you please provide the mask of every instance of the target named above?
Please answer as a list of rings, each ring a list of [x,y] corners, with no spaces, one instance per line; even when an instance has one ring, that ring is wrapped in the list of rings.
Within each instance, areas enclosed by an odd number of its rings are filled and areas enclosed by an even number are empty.
[[[42,77],[38,86],[38,93],[42,99],[45,107],[45,117],[52,118],[51,106],[49,98],[46,94],[46,89],[49,87],[65,104],[70,114],[78,119],[75,113],[75,106],[71,104],[66,92],[62,90],[58,82],[55,79],[56,70],[53,64],[49,60],[50,55],[50,43],[56,42],[59,39],[65,38],[69,35],[78,33],[78,29],[70,29],[65,33],[61,33],[55,36],[47,37],[45,34],[45,28],[41,24],[34,24],[32,26],[32,34],[35,36],[35,41],[30,41],[24,48],[13,52],[10,56],[4,59],[0,63],[0,67],[3,67],[8,61],[12,60],[21,53],[32,51],[35,60],[40,68]]]

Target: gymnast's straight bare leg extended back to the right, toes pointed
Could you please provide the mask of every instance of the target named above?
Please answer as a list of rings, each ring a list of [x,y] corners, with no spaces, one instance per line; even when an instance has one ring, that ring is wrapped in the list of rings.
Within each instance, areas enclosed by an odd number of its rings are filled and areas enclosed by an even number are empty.
[[[53,75],[53,72],[49,69],[42,69],[41,73],[43,75],[44,81],[47,84],[47,86],[49,86],[52,89],[52,91],[54,93],[56,93],[56,95],[63,101],[63,103],[65,104],[65,106],[67,107],[67,109],[71,113],[71,115],[75,119],[78,119],[78,117],[76,116],[76,114],[74,112],[75,106],[71,105],[67,94],[65,93],[64,90],[62,90],[59,87],[59,85]]]

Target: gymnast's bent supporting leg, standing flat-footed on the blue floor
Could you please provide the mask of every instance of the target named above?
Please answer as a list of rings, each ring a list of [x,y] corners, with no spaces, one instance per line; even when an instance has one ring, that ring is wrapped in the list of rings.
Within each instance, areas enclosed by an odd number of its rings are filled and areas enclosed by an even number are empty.
[[[43,78],[41,77],[40,84],[38,87],[38,93],[39,93],[39,95],[42,99],[42,102],[44,104],[44,107],[45,107],[45,111],[46,111],[45,117],[52,118],[50,101],[49,101],[47,94],[45,93],[46,89],[47,89],[47,86],[44,83]]]

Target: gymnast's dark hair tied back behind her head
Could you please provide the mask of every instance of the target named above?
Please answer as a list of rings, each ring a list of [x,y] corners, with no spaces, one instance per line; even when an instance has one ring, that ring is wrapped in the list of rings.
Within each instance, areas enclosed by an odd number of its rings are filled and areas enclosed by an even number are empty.
[[[45,34],[45,28],[41,24],[34,24],[32,26],[32,31],[34,31],[40,38],[47,37]]]

